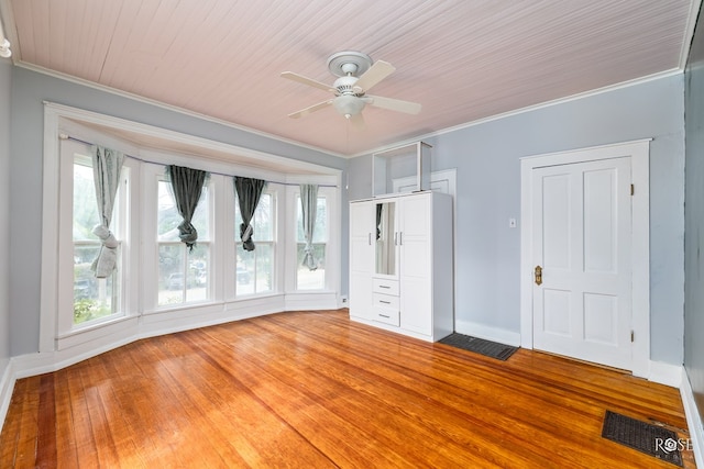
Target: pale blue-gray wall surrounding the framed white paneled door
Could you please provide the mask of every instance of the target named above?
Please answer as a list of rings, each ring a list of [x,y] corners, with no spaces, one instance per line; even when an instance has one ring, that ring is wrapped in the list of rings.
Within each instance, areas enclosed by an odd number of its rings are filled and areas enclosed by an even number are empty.
[[[683,77],[673,76],[427,138],[457,168],[455,320],[519,332],[522,156],[654,138],[650,145],[651,358],[683,360]],[[371,158],[350,161],[350,200],[371,194]],[[508,219],[518,219],[518,230]]]

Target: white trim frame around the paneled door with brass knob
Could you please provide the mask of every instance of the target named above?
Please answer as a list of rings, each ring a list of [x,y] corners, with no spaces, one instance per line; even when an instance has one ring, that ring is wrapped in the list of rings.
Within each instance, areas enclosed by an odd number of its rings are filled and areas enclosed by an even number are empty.
[[[520,346],[532,348],[532,170],[546,166],[569,165],[630,157],[635,192],[632,211],[632,373],[650,373],[650,139],[594,146],[520,159]]]

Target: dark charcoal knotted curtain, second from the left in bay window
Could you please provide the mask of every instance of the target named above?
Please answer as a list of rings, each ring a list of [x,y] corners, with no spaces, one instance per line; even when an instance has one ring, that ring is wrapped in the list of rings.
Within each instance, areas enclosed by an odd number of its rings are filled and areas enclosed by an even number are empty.
[[[208,179],[208,174],[200,169],[170,165],[166,167],[166,176],[168,176],[172,183],[172,193],[176,202],[176,210],[178,210],[178,214],[184,219],[178,225],[178,237],[193,250],[198,239],[198,231],[190,222],[198,206],[198,201],[202,193],[202,187]]]

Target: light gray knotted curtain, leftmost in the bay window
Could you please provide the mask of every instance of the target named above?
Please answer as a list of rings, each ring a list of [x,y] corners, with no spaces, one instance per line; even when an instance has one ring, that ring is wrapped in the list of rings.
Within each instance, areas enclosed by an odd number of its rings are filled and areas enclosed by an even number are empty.
[[[124,154],[98,145],[92,145],[90,153],[96,202],[98,202],[98,213],[100,214],[100,223],[92,228],[92,233],[101,242],[98,257],[92,261],[90,269],[97,278],[105,279],[112,273],[118,261],[119,243],[110,231],[110,220],[112,220],[114,198],[120,186],[120,171]]]

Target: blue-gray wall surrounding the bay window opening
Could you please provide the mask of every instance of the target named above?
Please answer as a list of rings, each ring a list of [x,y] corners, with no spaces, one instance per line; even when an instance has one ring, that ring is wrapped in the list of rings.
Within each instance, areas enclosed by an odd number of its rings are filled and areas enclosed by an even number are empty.
[[[342,158],[20,67],[12,67],[11,85],[13,133],[10,142],[10,191],[12,193],[10,242],[12,250],[9,264],[12,271],[10,279],[10,328],[12,331],[10,351],[12,356],[33,353],[38,348],[44,100],[337,169],[345,169],[348,165],[348,161]],[[2,141],[7,142],[6,138]],[[342,180],[345,180],[344,174]],[[341,199],[342,232],[346,233],[348,203],[344,188],[341,190]],[[342,284],[343,291],[346,292],[348,264],[344,255],[346,236],[343,238],[342,249]]]

